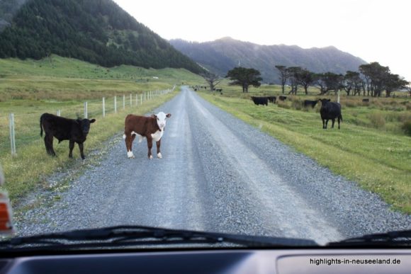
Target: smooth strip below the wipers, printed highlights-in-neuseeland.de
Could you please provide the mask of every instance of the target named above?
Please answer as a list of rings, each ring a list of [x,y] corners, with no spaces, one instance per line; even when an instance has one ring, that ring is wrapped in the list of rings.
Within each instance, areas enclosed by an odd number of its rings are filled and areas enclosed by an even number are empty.
[[[2,254],[15,273],[410,273],[410,249],[205,249]]]

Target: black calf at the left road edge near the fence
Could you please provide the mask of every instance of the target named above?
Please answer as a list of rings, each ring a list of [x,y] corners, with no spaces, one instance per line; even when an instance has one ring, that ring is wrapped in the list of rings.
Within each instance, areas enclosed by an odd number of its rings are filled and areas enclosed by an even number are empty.
[[[81,159],[84,160],[83,143],[86,141],[89,134],[90,124],[96,122],[96,119],[67,119],[44,113],[40,116],[40,136],[43,137],[45,132],[44,144],[47,154],[56,156],[53,149],[53,137],[56,137],[60,142],[69,140],[69,157],[73,158],[74,142],[79,144]]]

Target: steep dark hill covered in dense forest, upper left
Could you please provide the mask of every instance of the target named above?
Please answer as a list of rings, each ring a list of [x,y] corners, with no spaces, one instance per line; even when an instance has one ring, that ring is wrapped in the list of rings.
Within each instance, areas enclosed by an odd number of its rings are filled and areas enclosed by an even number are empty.
[[[0,33],[1,58],[40,59],[53,53],[104,67],[131,64],[202,72],[111,0],[27,0],[11,21],[0,21],[7,22]]]

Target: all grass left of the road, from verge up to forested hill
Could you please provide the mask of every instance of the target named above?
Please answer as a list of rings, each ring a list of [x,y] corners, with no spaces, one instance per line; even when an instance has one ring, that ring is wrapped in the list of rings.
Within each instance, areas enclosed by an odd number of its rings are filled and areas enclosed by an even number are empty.
[[[73,151],[74,159],[68,158],[67,141],[55,142],[57,157],[47,156],[40,138],[39,118],[42,113],[60,110],[61,115],[67,118],[82,117],[84,101],[87,101],[89,118],[96,118],[84,143],[87,158],[91,151],[102,149],[102,142],[121,132],[125,115],[150,112],[175,96],[179,89],[141,104],[142,93],[199,81],[200,76],[185,69],[155,70],[132,66],[108,69],[58,56],[38,61],[0,59],[0,164],[6,177],[2,188],[9,192],[11,201],[16,204],[33,190],[49,188],[45,179],[55,171],[84,166],[77,145]],[[133,95],[132,106],[130,94]],[[136,95],[138,105],[135,105]],[[105,118],[102,115],[103,96]],[[114,96],[117,96],[117,113],[114,113]],[[9,113],[14,114],[15,120],[16,156],[11,156],[10,152]],[[89,157],[86,163],[94,161],[94,158]]]

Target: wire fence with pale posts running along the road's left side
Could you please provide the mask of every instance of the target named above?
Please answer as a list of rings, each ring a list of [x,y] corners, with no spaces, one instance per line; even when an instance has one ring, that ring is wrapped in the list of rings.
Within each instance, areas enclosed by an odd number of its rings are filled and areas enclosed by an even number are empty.
[[[41,144],[40,115],[52,113],[65,118],[98,118],[110,113],[118,113],[126,108],[137,108],[139,105],[152,100],[157,96],[174,91],[175,86],[163,91],[146,91],[130,93],[123,96],[103,97],[83,103],[72,103],[62,108],[33,107],[18,113],[0,112],[0,156],[5,154],[16,155],[18,149],[26,145]]]

